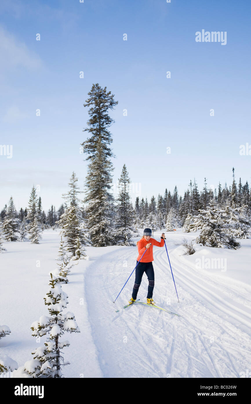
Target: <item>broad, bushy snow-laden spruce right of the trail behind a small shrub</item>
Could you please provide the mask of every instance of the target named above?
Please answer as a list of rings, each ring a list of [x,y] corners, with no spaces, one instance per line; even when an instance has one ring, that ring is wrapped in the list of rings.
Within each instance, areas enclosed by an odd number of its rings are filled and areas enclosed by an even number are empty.
[[[240,244],[235,240],[235,229],[230,225],[226,211],[219,208],[212,199],[207,209],[200,209],[199,214],[193,216],[193,222],[188,224],[188,231],[200,230],[197,243],[203,246],[216,248],[239,248]]]

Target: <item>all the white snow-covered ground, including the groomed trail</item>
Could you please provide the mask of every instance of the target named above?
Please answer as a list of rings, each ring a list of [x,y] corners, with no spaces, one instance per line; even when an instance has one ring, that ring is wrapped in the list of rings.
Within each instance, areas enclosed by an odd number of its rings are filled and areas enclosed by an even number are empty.
[[[45,341],[36,342],[30,326],[48,315],[43,297],[56,267],[59,230],[42,236],[38,245],[5,242],[8,251],[0,254],[0,325],[11,330],[0,340],[0,352],[19,366]],[[153,263],[156,304],[183,317],[139,304],[122,309],[134,274],[112,303],[136,265],[136,247],[86,248],[90,260],[79,261],[69,284],[62,285],[66,311],[75,314],[81,330],[63,337],[71,343],[64,348],[71,362],[64,377],[240,377],[251,370],[251,240],[241,240],[239,250],[196,246],[188,256],[177,246],[184,237],[195,234],[166,232],[179,303],[165,247],[154,247]],[[141,301],[147,285],[144,274]]]

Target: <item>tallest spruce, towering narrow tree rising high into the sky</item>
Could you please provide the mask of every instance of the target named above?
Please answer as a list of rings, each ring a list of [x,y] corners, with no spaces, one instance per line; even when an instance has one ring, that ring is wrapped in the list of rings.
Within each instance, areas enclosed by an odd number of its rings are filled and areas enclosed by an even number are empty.
[[[108,115],[108,109],[114,109],[118,101],[114,95],[93,84],[88,93],[89,98],[84,107],[90,107],[87,131],[91,136],[83,143],[83,153],[89,161],[86,177],[87,228],[91,244],[95,247],[113,245],[114,232],[114,198],[110,192],[112,187],[112,162],[114,156],[110,148],[111,133],[108,131],[114,120]]]

